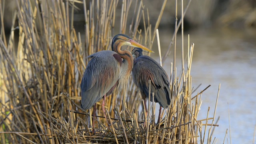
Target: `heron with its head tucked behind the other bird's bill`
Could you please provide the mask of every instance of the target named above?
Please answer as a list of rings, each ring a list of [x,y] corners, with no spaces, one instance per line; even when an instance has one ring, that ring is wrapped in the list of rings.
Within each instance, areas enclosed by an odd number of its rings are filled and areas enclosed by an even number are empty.
[[[153,101],[152,93],[154,92],[154,102],[160,104],[159,116],[157,123],[160,122],[161,107],[168,108],[171,102],[170,83],[168,76],[162,66],[153,58],[143,56],[141,48],[132,50],[134,64],[132,68],[132,79],[134,84],[140,89],[140,94],[144,100],[146,114],[148,109],[146,106],[146,98],[148,98],[149,88],[148,81],[151,80],[150,101]]]

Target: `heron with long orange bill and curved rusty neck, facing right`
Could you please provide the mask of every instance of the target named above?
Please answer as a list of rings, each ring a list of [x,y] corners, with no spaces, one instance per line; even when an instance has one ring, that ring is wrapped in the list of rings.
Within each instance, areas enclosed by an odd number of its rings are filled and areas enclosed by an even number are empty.
[[[106,96],[112,94],[116,87],[121,90],[127,88],[128,77],[133,66],[133,57],[129,51],[121,50],[121,46],[124,45],[139,47],[153,52],[135,42],[129,36],[117,34],[112,40],[112,51],[103,50],[88,56],[92,59],[88,62],[81,81],[81,107],[89,109],[94,105],[94,120],[96,102],[103,98],[102,110],[107,120],[104,107]]]

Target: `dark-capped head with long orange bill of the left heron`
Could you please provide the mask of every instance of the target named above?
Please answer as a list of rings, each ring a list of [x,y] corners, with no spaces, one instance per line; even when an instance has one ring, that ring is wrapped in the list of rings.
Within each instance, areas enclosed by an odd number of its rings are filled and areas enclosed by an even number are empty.
[[[146,50],[148,52],[153,52],[152,50],[146,48],[145,46],[142,46],[138,42],[135,42],[134,40],[132,40],[132,38],[130,38],[129,36],[126,36],[125,34],[117,34],[116,36],[114,36],[114,38],[112,40],[112,50],[118,44],[120,44],[120,46],[138,47],[138,48],[142,48],[143,50]]]

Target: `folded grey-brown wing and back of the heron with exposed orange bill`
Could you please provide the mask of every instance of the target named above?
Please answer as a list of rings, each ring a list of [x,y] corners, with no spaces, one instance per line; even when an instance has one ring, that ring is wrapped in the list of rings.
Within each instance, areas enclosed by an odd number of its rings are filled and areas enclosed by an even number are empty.
[[[116,55],[116,52],[104,50],[88,56],[92,59],[88,62],[81,81],[83,109],[91,108],[102,99],[104,94],[111,94],[109,91],[116,86],[120,74],[120,63],[113,55]]]

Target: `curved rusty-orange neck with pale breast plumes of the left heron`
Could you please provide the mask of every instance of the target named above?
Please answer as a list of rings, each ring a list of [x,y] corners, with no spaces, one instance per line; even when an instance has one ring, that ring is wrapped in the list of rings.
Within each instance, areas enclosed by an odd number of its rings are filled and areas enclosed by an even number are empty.
[[[128,78],[132,72],[132,66],[133,66],[133,57],[132,54],[127,51],[121,50],[121,43],[114,44],[112,47],[112,50],[119,54],[121,58],[123,58],[121,67],[120,67],[120,75],[119,75],[119,82],[118,82],[118,88],[120,89],[121,95],[124,95],[127,89],[128,84]]]

